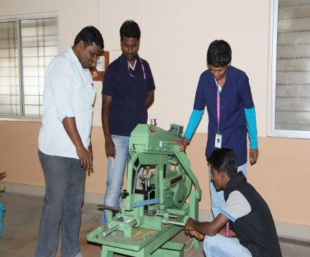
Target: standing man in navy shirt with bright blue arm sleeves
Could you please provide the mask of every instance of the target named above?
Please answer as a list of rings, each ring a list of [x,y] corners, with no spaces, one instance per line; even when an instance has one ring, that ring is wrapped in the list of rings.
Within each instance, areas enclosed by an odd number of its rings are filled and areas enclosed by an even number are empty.
[[[256,114],[247,75],[230,65],[232,50],[228,42],[214,40],[207,53],[208,69],[197,86],[194,110],[181,141],[179,151],[184,151],[197,129],[204,109],[208,110],[207,159],[216,148],[234,150],[238,171],[247,174],[247,133],[250,138],[250,164],[258,158]],[[210,169],[209,169],[210,175]],[[225,204],[223,191],[217,192],[210,182],[211,207],[214,217]]]

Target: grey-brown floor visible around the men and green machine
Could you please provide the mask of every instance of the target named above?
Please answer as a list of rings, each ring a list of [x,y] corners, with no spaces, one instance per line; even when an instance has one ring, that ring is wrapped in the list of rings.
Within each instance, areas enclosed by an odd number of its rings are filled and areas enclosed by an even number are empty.
[[[43,198],[16,193],[3,193],[0,201],[6,206],[3,237],[0,239],[1,257],[30,257],[34,255],[34,247],[38,236],[38,222],[43,206]],[[84,257],[100,257],[98,245],[87,243],[86,234],[98,227],[100,210],[94,204],[85,204],[80,228],[80,247]],[[184,256],[202,257],[201,249],[188,249],[191,240],[180,232],[174,241],[186,243]],[[283,256],[309,257],[310,243],[280,238]],[[60,256],[58,253],[56,256]],[[115,255],[116,256],[116,255]]]

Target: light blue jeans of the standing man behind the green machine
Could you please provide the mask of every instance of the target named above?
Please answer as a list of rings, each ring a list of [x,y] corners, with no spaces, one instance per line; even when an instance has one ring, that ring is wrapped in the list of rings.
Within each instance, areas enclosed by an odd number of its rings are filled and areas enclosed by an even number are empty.
[[[115,158],[109,156],[107,171],[107,189],[104,193],[104,205],[119,207],[120,192],[124,182],[126,163],[129,160],[129,136],[112,135],[115,145]],[[101,224],[107,223],[108,210],[102,214]]]

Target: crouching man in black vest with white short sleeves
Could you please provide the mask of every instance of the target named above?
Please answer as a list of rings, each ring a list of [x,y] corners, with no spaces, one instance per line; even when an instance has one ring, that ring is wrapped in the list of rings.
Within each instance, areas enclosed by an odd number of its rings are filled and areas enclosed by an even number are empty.
[[[198,222],[189,218],[185,231],[203,240],[206,256],[282,256],[272,213],[263,197],[237,173],[232,149],[215,149],[208,162],[211,180],[223,190],[225,205],[216,219]]]

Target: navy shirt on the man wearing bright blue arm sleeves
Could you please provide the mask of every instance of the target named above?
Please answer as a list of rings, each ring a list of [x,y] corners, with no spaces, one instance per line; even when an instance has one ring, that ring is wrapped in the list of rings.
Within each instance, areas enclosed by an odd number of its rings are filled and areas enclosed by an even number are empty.
[[[238,166],[247,162],[247,124],[244,108],[254,107],[249,78],[247,75],[228,66],[225,84],[220,97],[219,134],[222,135],[221,147],[234,149]],[[197,86],[194,109],[208,110],[208,142],[207,158],[214,150],[215,134],[217,134],[217,84],[210,70],[204,71]]]

